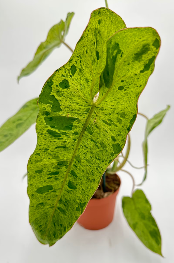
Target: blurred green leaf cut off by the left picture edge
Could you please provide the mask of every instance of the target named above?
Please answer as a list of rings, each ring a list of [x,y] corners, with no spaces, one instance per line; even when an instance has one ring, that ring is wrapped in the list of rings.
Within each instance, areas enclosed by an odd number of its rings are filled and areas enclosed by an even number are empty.
[[[33,123],[39,112],[37,100],[33,99],[0,127],[0,152],[21,136]]]

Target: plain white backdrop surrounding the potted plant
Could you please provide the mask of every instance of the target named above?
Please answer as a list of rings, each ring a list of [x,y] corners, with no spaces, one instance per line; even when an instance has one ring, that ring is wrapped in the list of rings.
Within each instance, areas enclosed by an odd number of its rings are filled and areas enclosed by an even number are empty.
[[[162,235],[162,253],[152,253],[132,232],[121,209],[121,198],[130,195],[129,175],[119,173],[122,184],[117,196],[115,218],[109,227],[91,231],[75,224],[53,247],[37,241],[28,222],[29,198],[26,173],[29,156],[36,146],[33,125],[15,143],[0,153],[0,262],[1,263],[172,263],[174,235],[173,174],[173,1],[108,0],[109,7],[119,14],[127,27],[154,27],[162,45],[155,62],[155,71],[138,102],[139,112],[152,117],[166,105],[168,111],[161,126],[149,136],[148,177],[142,189],[152,204]],[[71,52],[65,46],[51,56],[29,77],[16,77],[33,58],[37,46],[45,41],[48,30],[68,12],[75,12],[66,42],[74,49],[85,29],[90,13],[105,6],[104,0],[1,0],[0,7],[0,125],[28,100],[37,97],[46,79],[65,64]],[[130,160],[142,166],[141,143],[145,119],[138,116],[131,131]],[[129,169],[140,183],[143,171]]]

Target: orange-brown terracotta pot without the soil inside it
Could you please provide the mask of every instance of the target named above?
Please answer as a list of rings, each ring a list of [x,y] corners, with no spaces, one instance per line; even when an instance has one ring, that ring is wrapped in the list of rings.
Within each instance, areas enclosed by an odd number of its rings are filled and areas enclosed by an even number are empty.
[[[90,230],[98,230],[107,227],[114,217],[115,201],[118,191],[119,188],[108,197],[91,199],[77,222],[82,227]]]

